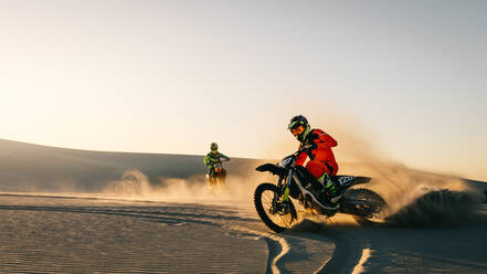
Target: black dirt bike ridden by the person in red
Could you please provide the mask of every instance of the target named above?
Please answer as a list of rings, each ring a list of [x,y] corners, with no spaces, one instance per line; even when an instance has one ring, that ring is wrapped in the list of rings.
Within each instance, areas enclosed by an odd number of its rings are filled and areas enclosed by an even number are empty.
[[[285,157],[279,164],[264,164],[256,168],[257,171],[269,171],[278,176],[277,185],[263,182],[255,189],[254,205],[262,221],[277,233],[289,229],[297,222],[297,212],[292,199],[283,199],[288,187],[289,197],[297,200],[307,211],[327,217],[332,217],[337,212],[351,214],[360,224],[373,223],[374,218],[387,208],[385,201],[372,190],[349,189],[352,186],[367,183],[371,179],[354,176],[331,177],[336,182],[336,189],[343,193],[343,197],[338,201],[337,208],[327,207],[314,194],[316,193],[314,186],[319,182],[305,168],[295,165],[297,156],[308,148],[303,147]],[[311,180],[316,180],[316,183],[313,185]]]

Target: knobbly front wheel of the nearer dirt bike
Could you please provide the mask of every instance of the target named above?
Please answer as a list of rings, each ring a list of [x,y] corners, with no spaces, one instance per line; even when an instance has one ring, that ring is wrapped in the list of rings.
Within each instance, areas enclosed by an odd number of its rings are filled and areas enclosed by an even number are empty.
[[[254,205],[265,225],[277,233],[289,229],[297,219],[290,199],[282,202],[279,189],[269,182],[261,183],[255,189]]]

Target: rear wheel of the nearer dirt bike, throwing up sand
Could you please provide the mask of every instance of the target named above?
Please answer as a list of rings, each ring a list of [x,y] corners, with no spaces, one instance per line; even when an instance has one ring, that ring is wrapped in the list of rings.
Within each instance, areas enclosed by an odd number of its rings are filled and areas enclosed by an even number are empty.
[[[388,203],[372,190],[358,188],[345,192],[342,205],[348,209],[346,213],[352,214],[359,224],[372,225],[380,222],[380,213]]]

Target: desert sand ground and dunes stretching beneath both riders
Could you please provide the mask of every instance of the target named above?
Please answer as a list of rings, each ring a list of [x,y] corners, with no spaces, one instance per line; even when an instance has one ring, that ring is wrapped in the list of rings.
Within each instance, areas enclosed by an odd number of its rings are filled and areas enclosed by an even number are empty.
[[[218,192],[202,161],[0,140],[0,272],[487,272],[485,182],[393,170],[371,186],[383,223],[301,212],[276,234],[252,203],[261,160],[232,159]]]

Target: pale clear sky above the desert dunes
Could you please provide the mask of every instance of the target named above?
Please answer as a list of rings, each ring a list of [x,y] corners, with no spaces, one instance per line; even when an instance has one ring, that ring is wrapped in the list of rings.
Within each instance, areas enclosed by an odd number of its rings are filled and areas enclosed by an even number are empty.
[[[0,0],[0,138],[280,158],[293,115],[487,179],[487,1]]]

